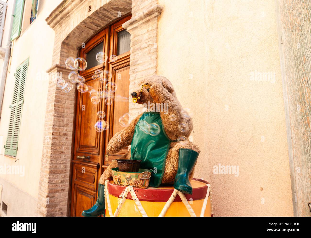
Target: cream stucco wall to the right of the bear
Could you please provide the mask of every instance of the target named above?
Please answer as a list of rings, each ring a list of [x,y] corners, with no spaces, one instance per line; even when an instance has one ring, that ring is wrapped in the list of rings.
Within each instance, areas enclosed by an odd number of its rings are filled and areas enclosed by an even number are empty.
[[[292,216],[274,1],[159,4],[157,73],[194,112],[195,177],[211,183],[215,216]],[[214,174],[219,163],[239,176]]]

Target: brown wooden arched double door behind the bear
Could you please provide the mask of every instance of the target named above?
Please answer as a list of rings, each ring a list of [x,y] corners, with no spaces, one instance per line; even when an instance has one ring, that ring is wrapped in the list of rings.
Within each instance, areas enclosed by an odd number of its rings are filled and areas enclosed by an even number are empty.
[[[109,70],[112,77],[109,82],[117,85],[113,93],[112,103],[105,103],[105,98],[100,98],[99,104],[92,104],[90,93],[77,92],[75,140],[72,153],[71,173],[71,199],[70,216],[81,216],[83,210],[91,208],[97,199],[98,181],[104,169],[112,159],[121,156],[127,151],[125,148],[116,155],[106,155],[105,149],[109,139],[122,129],[118,119],[128,112],[129,105],[129,35],[122,28],[122,24],[131,16],[124,17],[120,21],[108,26],[89,40],[84,49],[80,50],[80,57],[87,61],[87,68],[80,74],[85,77],[86,84],[95,90],[103,91],[104,82],[100,78],[92,79],[95,70]],[[125,42],[126,41],[126,42]],[[95,55],[104,51],[108,60],[98,63]],[[117,55],[117,60],[110,60],[111,55]],[[94,128],[98,111],[104,111],[105,120],[109,123],[109,129],[97,132]],[[106,156],[105,156],[106,155]]]

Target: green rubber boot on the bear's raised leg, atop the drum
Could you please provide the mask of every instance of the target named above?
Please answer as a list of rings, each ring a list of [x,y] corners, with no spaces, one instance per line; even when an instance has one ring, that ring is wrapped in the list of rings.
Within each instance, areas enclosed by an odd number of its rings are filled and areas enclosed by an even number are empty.
[[[175,177],[174,188],[184,194],[192,194],[189,175],[193,170],[199,153],[190,149],[179,149],[179,164]]]

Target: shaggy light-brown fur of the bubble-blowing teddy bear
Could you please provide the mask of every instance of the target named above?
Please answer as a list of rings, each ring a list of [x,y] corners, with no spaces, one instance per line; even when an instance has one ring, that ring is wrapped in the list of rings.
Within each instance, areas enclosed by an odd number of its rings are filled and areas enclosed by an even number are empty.
[[[143,87],[142,91],[142,85],[149,84],[151,87],[149,91],[146,87]],[[137,97],[140,97],[137,100],[137,103],[139,104],[150,104],[154,103],[167,103],[168,104],[168,114],[165,114],[164,112],[160,112],[160,116],[162,119],[163,127],[165,130],[165,133],[167,136],[175,141],[179,136],[183,135],[185,137],[189,137],[193,124],[192,119],[184,119],[181,115],[181,110],[183,109],[181,104],[179,103],[176,93],[174,91],[172,83],[165,77],[162,76],[151,76],[149,78],[146,78],[145,80],[141,81],[140,84],[137,87]],[[174,122],[169,120],[169,115],[174,114],[176,116],[176,120]],[[137,124],[137,121],[139,120],[141,114],[137,116],[135,119],[132,120],[130,125],[120,132],[116,133],[113,138],[108,143],[107,146],[107,152],[109,154],[114,154],[116,152],[119,152],[122,148],[129,146],[131,144],[133,135],[134,135],[134,128]],[[184,122],[188,125],[188,129],[182,133],[179,131],[178,126],[179,123]],[[121,141],[120,141],[121,137]],[[119,139],[118,139],[119,138]],[[179,159],[179,149],[180,148],[187,148],[194,150],[198,153],[200,153],[200,149],[193,144],[192,142],[188,142],[186,145],[183,145],[179,142],[172,142],[170,145],[169,152],[166,157],[165,161],[165,168],[164,168],[164,174],[162,178],[162,184],[170,184],[173,183],[175,180],[175,176],[178,170],[178,159]],[[129,159],[131,156],[130,151],[122,156],[122,158]],[[112,177],[112,171],[111,168],[118,167],[117,161],[113,161],[108,168],[104,171],[104,173],[100,177],[100,184],[104,184],[105,180]],[[190,174],[190,178],[193,177],[194,169]]]

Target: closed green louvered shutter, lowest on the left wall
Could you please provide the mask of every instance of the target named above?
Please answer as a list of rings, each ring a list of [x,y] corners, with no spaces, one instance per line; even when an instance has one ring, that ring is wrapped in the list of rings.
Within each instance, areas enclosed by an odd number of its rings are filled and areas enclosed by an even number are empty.
[[[5,155],[16,156],[29,58],[17,67]]]

